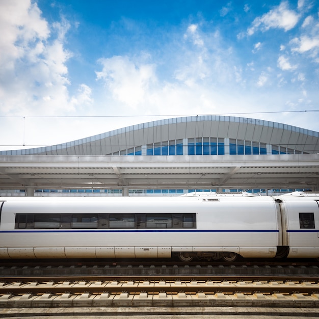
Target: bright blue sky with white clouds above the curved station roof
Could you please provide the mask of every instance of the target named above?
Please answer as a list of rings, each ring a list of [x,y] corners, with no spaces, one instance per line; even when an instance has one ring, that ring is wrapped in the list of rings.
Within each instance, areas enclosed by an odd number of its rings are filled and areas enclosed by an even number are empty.
[[[0,149],[187,115],[319,131],[317,0],[0,0]]]

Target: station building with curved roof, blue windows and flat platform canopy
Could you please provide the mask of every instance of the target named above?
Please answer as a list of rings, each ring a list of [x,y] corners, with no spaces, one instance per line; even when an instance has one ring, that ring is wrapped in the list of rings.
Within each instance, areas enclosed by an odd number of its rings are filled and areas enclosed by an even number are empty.
[[[179,195],[194,190],[317,191],[318,154],[316,131],[242,117],[179,117],[123,127],[59,145],[0,151],[0,188],[22,194],[31,188],[38,195],[125,193],[128,196]],[[73,176],[72,182],[70,175],[74,171],[70,173],[68,168],[74,169],[76,158],[81,158],[78,162],[82,163],[89,157],[95,161],[91,165],[94,168],[89,172],[83,167],[80,175],[87,173],[87,178]],[[55,172],[49,171],[48,158],[57,163]],[[25,161],[29,168],[23,170]],[[16,163],[16,171],[10,162]],[[55,173],[59,176],[54,177]],[[92,180],[90,187],[85,180]],[[14,187],[17,188],[13,191]]]

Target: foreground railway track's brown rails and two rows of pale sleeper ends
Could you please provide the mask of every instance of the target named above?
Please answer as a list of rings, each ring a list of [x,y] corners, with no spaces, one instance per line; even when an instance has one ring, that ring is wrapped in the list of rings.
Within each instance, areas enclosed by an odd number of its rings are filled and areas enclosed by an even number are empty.
[[[1,278],[0,307],[279,306],[319,308],[319,277]]]

